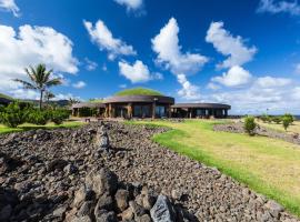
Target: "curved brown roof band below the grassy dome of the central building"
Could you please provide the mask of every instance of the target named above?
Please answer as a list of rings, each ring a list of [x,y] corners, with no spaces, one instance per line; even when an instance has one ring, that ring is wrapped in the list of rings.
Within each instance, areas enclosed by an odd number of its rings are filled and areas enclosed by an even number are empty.
[[[158,102],[158,103],[167,103],[173,104],[174,98],[163,97],[163,95],[117,95],[108,98],[103,101],[103,103],[128,103],[128,102]]]

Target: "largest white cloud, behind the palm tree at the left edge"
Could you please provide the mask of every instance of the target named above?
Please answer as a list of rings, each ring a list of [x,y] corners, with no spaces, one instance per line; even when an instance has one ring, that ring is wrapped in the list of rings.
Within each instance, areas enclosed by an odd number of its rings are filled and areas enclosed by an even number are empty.
[[[72,42],[50,27],[0,26],[0,91],[9,93],[20,88],[11,79],[26,79],[24,68],[44,63],[54,72],[77,73],[78,61],[72,56]]]

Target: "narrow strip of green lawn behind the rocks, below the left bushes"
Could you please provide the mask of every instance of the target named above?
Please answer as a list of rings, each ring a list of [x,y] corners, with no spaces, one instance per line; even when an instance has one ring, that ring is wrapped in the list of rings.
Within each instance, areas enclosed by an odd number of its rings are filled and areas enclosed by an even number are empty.
[[[66,121],[60,125],[56,125],[54,123],[48,123],[46,125],[36,125],[36,124],[24,123],[24,124],[19,125],[18,128],[8,128],[3,124],[0,124],[0,134],[9,133],[9,132],[22,132],[22,131],[33,130],[33,129],[77,128],[82,124],[84,123],[78,122],[78,121]]]

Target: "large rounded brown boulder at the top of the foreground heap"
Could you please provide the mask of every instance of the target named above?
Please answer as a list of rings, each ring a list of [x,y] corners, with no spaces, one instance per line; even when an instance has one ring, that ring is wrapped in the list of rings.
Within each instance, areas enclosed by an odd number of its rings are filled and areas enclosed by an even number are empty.
[[[90,172],[86,179],[86,183],[96,192],[98,196],[104,192],[114,194],[118,186],[118,178],[107,168],[102,168],[99,172],[96,170]]]

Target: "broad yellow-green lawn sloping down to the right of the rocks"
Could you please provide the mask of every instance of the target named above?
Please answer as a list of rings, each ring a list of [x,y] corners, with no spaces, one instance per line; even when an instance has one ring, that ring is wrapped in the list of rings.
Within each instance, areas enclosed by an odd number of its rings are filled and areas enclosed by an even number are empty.
[[[300,215],[300,145],[266,137],[214,132],[218,121],[138,122],[172,130],[153,140],[171,150],[217,167],[288,211]]]

